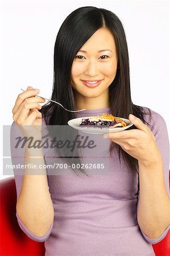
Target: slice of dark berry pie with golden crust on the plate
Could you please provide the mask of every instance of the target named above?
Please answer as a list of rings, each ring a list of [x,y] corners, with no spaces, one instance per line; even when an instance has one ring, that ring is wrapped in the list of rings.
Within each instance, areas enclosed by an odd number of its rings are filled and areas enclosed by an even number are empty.
[[[114,117],[112,114],[97,115],[96,117],[82,118],[80,127],[109,127],[110,129],[122,126],[125,127],[127,124],[123,119]]]

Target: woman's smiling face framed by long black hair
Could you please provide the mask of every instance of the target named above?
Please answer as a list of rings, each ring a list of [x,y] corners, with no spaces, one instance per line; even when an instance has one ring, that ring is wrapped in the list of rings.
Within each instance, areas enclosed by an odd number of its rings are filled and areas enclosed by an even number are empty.
[[[80,97],[98,97],[109,93],[117,72],[117,52],[113,35],[99,28],[74,57],[71,85]],[[88,81],[98,81],[89,83]]]

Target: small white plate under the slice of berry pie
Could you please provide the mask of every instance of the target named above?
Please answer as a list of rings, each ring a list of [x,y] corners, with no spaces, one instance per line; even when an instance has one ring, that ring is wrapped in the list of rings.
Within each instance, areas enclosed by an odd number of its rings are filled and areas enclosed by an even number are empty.
[[[114,133],[115,131],[123,131],[128,129],[129,127],[131,127],[133,124],[125,118],[122,117],[118,117],[121,118],[123,121],[125,121],[127,123],[127,126],[125,127],[115,127],[115,128],[108,128],[108,127],[103,127],[103,128],[99,128],[99,127],[80,127],[80,122],[82,120],[82,118],[90,118],[90,117],[79,117],[79,118],[74,118],[68,121],[68,125],[73,127],[76,130],[79,131],[83,131],[84,133],[90,133],[90,134],[104,134],[104,133]]]

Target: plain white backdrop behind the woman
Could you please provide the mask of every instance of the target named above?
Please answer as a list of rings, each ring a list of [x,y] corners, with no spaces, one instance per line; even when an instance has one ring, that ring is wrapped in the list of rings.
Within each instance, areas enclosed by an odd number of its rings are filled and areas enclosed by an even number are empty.
[[[0,3],[2,125],[11,125],[13,122],[11,110],[21,92],[20,88],[26,89],[31,85],[40,89],[41,96],[51,96],[53,48],[57,32],[73,10],[82,6],[96,6],[113,11],[125,28],[133,103],[147,106],[161,114],[170,134],[169,1],[62,0]],[[0,179],[7,177],[2,173],[1,168]]]

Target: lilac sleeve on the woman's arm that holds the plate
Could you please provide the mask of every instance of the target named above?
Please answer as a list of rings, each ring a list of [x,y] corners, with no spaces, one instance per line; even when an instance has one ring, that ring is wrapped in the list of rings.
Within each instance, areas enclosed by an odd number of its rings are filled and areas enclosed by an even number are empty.
[[[151,126],[148,125],[148,127],[150,128],[150,130],[152,131],[152,133],[155,136],[156,144],[157,144],[157,147],[159,148],[161,158],[163,160],[164,182],[165,182],[165,187],[167,189],[167,193],[169,196],[169,138],[168,138],[167,125],[165,123],[164,118],[160,114],[158,114],[152,110],[151,110],[151,119],[149,118],[148,114],[146,114],[145,119],[151,125]],[[146,123],[146,125],[147,125],[147,123]],[[138,194],[138,200],[139,200],[139,196],[140,196],[140,191]],[[138,208],[137,208],[137,210],[138,210]],[[158,243],[161,240],[163,240],[163,238],[165,238],[169,229],[170,229],[170,224],[169,224],[169,226],[167,226],[167,228],[164,230],[164,232],[156,239],[151,239],[151,238],[147,237],[146,234],[144,234],[144,232],[141,229],[140,230],[143,234],[143,237],[147,240],[147,242]]]

